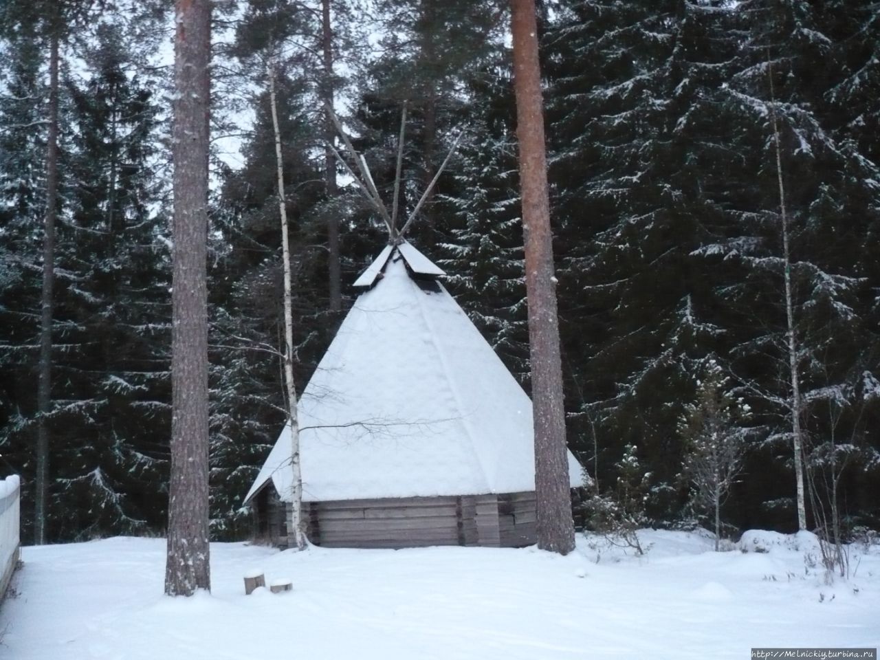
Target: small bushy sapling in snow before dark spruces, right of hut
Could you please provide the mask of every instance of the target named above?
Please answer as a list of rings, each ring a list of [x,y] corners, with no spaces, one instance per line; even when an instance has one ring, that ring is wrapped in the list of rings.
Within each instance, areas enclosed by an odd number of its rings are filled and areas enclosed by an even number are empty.
[[[730,378],[709,359],[697,381],[697,398],[685,407],[678,423],[685,459],[683,476],[695,510],[715,518],[715,550],[721,540],[721,505],[743,469],[744,429],[738,422],[749,407],[730,392]]]

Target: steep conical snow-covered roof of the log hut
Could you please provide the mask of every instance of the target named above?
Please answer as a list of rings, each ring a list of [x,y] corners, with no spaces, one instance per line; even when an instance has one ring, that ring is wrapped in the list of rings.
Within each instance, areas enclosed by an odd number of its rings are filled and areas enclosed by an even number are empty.
[[[481,495],[535,488],[532,401],[404,242],[357,298],[297,408],[303,501]],[[568,452],[572,486],[582,468]],[[290,501],[290,431],[246,496],[272,480]]]

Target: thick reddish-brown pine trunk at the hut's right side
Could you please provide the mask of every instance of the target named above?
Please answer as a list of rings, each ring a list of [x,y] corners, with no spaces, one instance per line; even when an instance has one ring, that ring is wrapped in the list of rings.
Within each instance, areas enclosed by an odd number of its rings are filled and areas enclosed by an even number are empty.
[[[511,7],[525,285],[532,359],[538,546],[568,554],[575,548],[575,527],[571,517],[565,442],[538,27],[534,0],[511,0]]]

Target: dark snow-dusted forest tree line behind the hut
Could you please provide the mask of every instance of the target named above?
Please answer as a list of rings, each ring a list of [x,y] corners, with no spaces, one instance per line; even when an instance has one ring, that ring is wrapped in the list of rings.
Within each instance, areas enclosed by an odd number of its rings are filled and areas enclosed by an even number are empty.
[[[216,124],[216,134],[244,134],[243,163],[211,161],[216,538],[248,531],[241,498],[284,419],[273,352],[282,340],[278,192],[260,21],[282,44],[276,82],[297,382],[308,379],[352,303],[348,283],[384,240],[356,191],[327,174],[322,99],[335,92],[386,200],[407,104],[407,209],[466,128],[412,236],[529,386],[507,4],[380,3],[370,26],[385,26],[387,36],[369,43],[378,31],[365,30],[361,8],[343,0],[228,5],[215,12],[216,29],[230,36],[214,47],[215,121],[245,107],[253,125]],[[100,20],[71,22],[60,42],[52,379],[43,415],[50,48],[39,22],[9,10],[0,17],[0,465],[23,474],[33,502],[40,420],[48,425],[48,539],[161,531],[166,515],[171,225],[163,154],[172,74],[158,66],[155,48],[167,35],[148,4],[136,14],[99,4],[89,11]],[[679,427],[711,359],[725,396],[751,411],[737,422],[744,463],[723,519],[796,526],[781,171],[803,462],[815,500],[808,526],[833,496],[850,527],[876,527],[880,10],[868,0],[567,0],[539,18],[568,444],[599,494],[613,495],[635,456],[641,519],[693,521]],[[26,504],[27,524],[32,511]]]

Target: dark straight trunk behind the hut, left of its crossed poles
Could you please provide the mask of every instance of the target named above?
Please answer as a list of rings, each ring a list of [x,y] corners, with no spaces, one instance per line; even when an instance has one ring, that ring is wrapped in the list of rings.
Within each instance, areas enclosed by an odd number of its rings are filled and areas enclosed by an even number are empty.
[[[333,24],[330,16],[331,0],[321,0],[321,51],[324,59],[324,80],[321,91],[324,96],[324,107],[332,108],[334,103],[333,75]],[[327,201],[333,200],[337,193],[336,159],[331,145],[334,141],[334,125],[330,118],[330,110],[325,110],[324,119],[324,179],[326,181]],[[342,309],[341,269],[339,259],[339,218],[333,209],[327,216],[327,270],[330,278],[330,311]]]

